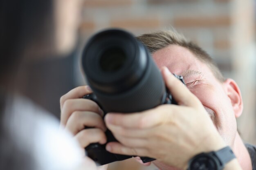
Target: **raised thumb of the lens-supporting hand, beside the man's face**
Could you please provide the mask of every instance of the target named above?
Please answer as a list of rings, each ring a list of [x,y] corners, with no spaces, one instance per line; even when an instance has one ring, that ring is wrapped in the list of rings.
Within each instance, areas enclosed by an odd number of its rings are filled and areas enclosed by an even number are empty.
[[[199,99],[195,97],[195,95],[193,95],[193,93],[191,93],[189,89],[186,88],[186,86],[184,86],[184,84],[182,84],[179,79],[173,76],[168,68],[162,68],[162,75],[164,77],[166,86],[168,87],[171,94],[173,95],[173,98],[179,105],[191,107],[198,106],[198,104],[200,103]]]

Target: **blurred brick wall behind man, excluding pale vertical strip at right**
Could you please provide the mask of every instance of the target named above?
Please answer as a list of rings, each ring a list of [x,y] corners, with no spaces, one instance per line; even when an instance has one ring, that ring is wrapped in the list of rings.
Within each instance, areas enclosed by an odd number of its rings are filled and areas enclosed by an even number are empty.
[[[208,51],[222,71],[232,66],[232,5],[229,0],[85,0],[81,36],[119,27],[135,35],[173,26]]]

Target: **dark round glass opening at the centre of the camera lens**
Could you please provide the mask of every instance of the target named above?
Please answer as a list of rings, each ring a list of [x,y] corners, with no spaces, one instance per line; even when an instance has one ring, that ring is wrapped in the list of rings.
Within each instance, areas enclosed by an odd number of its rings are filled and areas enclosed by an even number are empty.
[[[126,61],[125,52],[118,47],[111,47],[103,51],[100,56],[100,67],[105,72],[118,71]]]

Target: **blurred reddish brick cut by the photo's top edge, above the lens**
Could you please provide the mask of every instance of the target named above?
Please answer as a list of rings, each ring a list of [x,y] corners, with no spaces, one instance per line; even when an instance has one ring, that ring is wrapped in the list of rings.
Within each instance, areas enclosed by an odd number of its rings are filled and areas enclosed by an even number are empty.
[[[131,6],[133,0],[85,0],[85,7]]]

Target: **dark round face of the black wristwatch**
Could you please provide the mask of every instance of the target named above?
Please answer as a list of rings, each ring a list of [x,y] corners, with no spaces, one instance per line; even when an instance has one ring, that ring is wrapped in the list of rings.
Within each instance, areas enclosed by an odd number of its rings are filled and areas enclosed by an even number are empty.
[[[216,161],[208,155],[198,155],[191,161],[190,170],[217,170]]]

